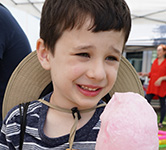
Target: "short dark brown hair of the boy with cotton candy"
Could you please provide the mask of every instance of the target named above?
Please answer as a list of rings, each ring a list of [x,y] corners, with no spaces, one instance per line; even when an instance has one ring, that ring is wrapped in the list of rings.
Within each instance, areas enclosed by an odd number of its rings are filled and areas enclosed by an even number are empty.
[[[87,16],[89,30],[121,31],[125,42],[131,29],[130,10],[124,0],[46,0],[42,9],[40,37],[54,54],[54,46],[66,29],[81,28]]]

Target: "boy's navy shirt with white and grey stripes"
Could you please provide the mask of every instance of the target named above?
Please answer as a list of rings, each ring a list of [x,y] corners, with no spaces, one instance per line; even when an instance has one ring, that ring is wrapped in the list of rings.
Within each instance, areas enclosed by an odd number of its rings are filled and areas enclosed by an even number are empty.
[[[44,97],[50,100],[51,94]],[[99,103],[102,103],[100,101]],[[97,108],[93,117],[82,128],[78,129],[73,149],[94,150],[97,134],[100,129],[99,117],[104,107]],[[39,101],[30,103],[27,110],[27,125],[24,135],[23,150],[65,150],[69,147],[69,134],[49,138],[44,134],[44,122],[48,106]],[[0,132],[0,150],[18,150],[20,141],[20,111],[16,106],[9,111]]]

